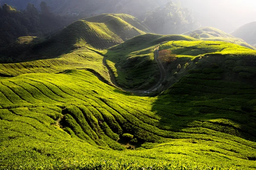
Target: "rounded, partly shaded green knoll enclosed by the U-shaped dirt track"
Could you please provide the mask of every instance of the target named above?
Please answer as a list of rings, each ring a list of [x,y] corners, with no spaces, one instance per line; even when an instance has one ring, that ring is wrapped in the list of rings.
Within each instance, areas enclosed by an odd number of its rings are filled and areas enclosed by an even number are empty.
[[[116,81],[125,88],[151,87],[158,81],[159,67],[154,59],[154,48],[166,41],[196,40],[180,35],[144,34],[116,45],[105,54]]]

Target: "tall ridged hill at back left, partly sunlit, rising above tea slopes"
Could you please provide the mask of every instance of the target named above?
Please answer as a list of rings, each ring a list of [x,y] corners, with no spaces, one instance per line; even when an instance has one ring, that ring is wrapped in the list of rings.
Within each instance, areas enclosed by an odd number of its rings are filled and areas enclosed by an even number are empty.
[[[0,55],[11,57],[14,62],[49,59],[68,54],[70,51],[82,47],[105,49],[137,35],[145,34],[144,31],[140,31],[134,26],[148,31],[139,20],[130,15],[105,14],[101,21],[96,20],[101,17],[102,15],[94,17],[95,19],[78,20],[47,40],[31,45],[25,52],[14,51],[14,53],[7,48],[3,50],[5,53]]]

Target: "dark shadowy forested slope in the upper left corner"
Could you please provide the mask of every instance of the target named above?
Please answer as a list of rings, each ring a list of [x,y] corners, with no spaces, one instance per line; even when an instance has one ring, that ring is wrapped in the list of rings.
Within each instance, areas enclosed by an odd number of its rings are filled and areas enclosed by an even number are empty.
[[[77,18],[61,17],[51,13],[47,3],[41,2],[41,11],[31,3],[18,11],[6,3],[0,8],[0,46],[17,37],[40,36],[67,26]]]

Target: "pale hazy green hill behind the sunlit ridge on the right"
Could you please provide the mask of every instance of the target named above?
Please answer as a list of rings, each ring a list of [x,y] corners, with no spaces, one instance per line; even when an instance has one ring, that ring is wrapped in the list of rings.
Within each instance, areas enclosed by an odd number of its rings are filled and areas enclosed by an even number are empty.
[[[191,33],[199,34],[201,37],[201,40],[204,41],[223,41],[223,42],[230,42],[233,44],[241,45],[243,47],[251,48],[255,50],[255,48],[248,44],[247,42],[242,40],[241,37],[233,37],[233,35],[227,34],[224,31],[221,31],[219,29],[213,28],[213,27],[202,27],[195,31],[189,31],[184,33],[183,35],[189,35]]]

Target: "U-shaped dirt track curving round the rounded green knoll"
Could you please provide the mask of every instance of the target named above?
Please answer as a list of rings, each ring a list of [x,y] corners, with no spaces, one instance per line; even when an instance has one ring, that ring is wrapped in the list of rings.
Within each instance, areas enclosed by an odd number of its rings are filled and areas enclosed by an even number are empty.
[[[156,85],[149,88],[148,90],[139,90],[139,88],[126,89],[126,88],[121,87],[116,82],[115,75],[114,75],[113,71],[111,70],[111,68],[109,67],[109,65],[107,64],[107,61],[106,61],[107,56],[105,56],[104,54],[101,54],[99,51],[96,51],[96,50],[93,50],[93,49],[90,49],[90,48],[87,48],[87,49],[89,49],[90,51],[96,52],[97,54],[99,54],[103,57],[102,64],[108,69],[108,74],[109,74],[109,77],[110,77],[110,81],[116,88],[122,89],[123,91],[131,92],[131,93],[134,93],[134,94],[149,94],[153,91],[157,91],[158,89],[160,89],[163,86],[162,82],[166,79],[166,71],[163,67],[162,62],[159,59],[159,46],[154,48],[154,59],[156,60],[157,65],[160,69],[160,79],[159,79],[159,81],[157,82]]]

